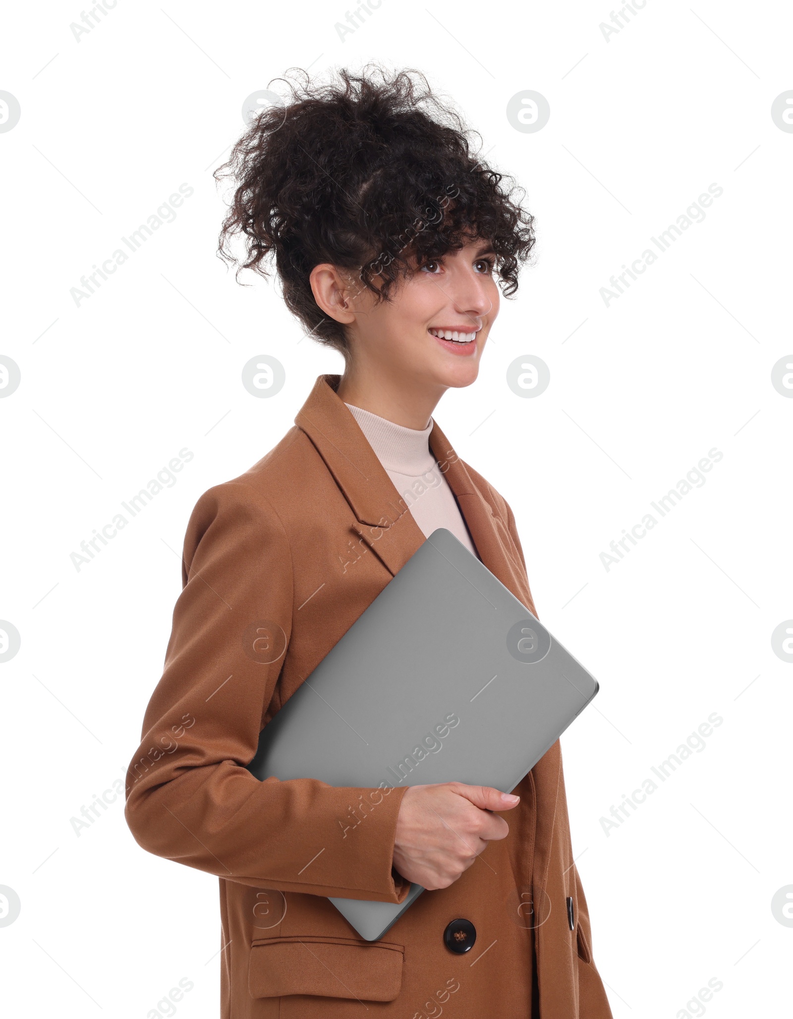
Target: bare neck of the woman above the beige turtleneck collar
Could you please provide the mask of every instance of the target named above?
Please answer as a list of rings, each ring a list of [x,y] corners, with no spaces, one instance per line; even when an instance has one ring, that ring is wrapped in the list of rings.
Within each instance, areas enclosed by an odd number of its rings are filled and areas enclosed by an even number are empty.
[[[421,384],[423,382],[423,384]],[[446,391],[446,386],[417,381],[392,368],[388,372],[349,361],[339,382],[338,395],[378,417],[405,428],[423,429]]]

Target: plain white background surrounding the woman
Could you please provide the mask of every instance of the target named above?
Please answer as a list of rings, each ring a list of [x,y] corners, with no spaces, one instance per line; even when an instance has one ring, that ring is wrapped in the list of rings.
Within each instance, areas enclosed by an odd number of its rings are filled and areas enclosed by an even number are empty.
[[[793,89],[793,9],[648,0],[607,41],[610,10],[383,0],[343,42],[344,0],[119,0],[79,41],[78,5],[6,10],[0,89],[21,118],[0,133],[0,354],[21,384],[0,399],[0,619],[21,649],[0,666],[0,884],[21,912],[0,927],[5,1014],[143,1019],[187,977],[177,1014],[218,1015],[217,881],[140,850],[120,799],[79,835],[71,818],[137,745],[195,500],[341,367],[277,287],[239,286],[216,258],[212,171],[244,99],[286,68],[373,58],[452,97],[536,217],[536,264],[479,380],[436,417],[513,506],[541,618],[601,682],[562,743],[614,1014],[787,1014],[793,928],[771,900],[793,884],[793,666],[771,635],[793,616],[793,399],[771,373],[793,351],[793,135],[771,105]],[[527,89],[551,106],[535,133],[506,116]],[[182,182],[175,221],[75,306],[70,288]],[[706,218],[607,307],[600,288],[712,183]],[[262,354],[286,371],[270,399],[240,382]],[[521,398],[506,369],[529,354],[551,384]],[[80,542],[185,446],[176,483],[77,571]],[[713,447],[705,483],[606,570]],[[607,835],[612,805],[712,712],[704,749]]]

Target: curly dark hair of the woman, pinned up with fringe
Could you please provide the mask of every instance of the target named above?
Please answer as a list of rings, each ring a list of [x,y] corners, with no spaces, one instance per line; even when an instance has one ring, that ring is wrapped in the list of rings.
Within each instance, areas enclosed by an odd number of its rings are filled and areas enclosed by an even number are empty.
[[[357,273],[387,301],[400,276],[483,238],[504,296],[515,292],[534,245],[525,193],[476,156],[479,136],[420,71],[369,64],[317,85],[297,68],[280,81],[290,100],[259,113],[215,171],[236,185],[218,254],[236,264],[237,281],[241,269],[267,276],[274,255],[289,310],[345,356],[344,326],[311,292],[309,274],[323,262]],[[244,260],[231,253],[240,232]]]

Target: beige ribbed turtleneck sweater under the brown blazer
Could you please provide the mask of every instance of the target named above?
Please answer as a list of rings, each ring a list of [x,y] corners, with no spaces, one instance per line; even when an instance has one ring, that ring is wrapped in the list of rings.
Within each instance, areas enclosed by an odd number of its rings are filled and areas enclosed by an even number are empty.
[[[424,537],[429,538],[436,528],[445,527],[469,552],[476,555],[454,492],[430,448],[433,419],[430,419],[427,428],[419,431],[396,425],[351,404],[346,407]]]

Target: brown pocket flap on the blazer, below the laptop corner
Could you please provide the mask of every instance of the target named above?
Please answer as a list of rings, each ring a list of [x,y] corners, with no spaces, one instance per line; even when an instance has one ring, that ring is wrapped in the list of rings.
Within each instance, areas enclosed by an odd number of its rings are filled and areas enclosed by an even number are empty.
[[[345,937],[273,937],[250,948],[251,998],[320,995],[393,1002],[402,986],[401,945]]]

